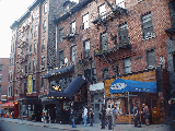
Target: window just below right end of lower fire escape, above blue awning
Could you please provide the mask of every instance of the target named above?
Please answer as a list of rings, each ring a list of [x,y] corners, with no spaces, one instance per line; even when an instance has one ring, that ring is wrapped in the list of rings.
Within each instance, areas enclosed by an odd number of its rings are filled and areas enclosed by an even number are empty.
[[[124,73],[131,73],[131,62],[130,62],[130,58],[125,58],[122,60],[124,63]]]

